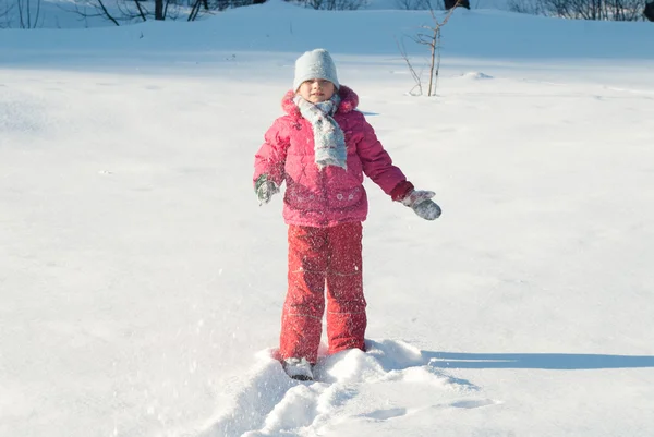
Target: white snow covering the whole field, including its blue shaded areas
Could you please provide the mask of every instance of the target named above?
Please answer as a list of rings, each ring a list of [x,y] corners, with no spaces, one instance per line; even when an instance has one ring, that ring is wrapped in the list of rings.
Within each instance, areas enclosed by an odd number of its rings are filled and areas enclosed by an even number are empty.
[[[395,38],[428,22],[0,31],[0,435],[650,436],[654,26],[457,11],[412,97]],[[299,383],[269,357],[281,199],[251,177],[314,47],[444,214],[366,183],[368,352]]]

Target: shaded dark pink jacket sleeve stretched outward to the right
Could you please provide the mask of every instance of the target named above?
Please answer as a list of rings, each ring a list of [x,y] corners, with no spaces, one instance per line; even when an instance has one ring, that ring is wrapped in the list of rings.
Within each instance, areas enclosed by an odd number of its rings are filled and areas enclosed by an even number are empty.
[[[390,155],[384,149],[375,130],[361,114],[363,137],[358,144],[359,158],[363,165],[364,173],[373,180],[388,195],[393,194],[393,189],[407,184],[407,177],[392,165]],[[393,196],[395,197],[395,196]]]

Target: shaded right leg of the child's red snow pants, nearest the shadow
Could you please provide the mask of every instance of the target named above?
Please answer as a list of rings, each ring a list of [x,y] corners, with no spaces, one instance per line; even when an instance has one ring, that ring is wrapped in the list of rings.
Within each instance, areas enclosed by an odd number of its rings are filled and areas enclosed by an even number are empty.
[[[362,275],[362,224],[329,228],[327,266],[327,337],[329,353],[365,350],[365,299]]]

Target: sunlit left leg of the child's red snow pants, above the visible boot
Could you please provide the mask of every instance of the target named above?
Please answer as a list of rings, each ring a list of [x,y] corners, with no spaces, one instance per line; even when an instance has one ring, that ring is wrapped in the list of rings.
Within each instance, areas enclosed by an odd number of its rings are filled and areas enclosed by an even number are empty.
[[[326,229],[289,227],[289,289],[281,316],[281,359],[318,357],[325,312]]]

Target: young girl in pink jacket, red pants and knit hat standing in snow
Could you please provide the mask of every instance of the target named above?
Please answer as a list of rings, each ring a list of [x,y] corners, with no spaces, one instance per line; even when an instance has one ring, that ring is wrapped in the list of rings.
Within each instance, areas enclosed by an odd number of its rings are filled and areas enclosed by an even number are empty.
[[[440,216],[429,191],[414,190],[392,165],[356,111],[359,97],[340,85],[324,49],[295,62],[293,89],[281,101],[286,116],[265,134],[255,156],[254,187],[267,204],[286,181],[283,219],[289,226],[288,292],[279,357],[295,379],[313,379],[327,290],[329,353],[365,350],[362,221],[367,215],[363,175],[426,220]]]

